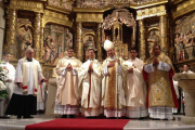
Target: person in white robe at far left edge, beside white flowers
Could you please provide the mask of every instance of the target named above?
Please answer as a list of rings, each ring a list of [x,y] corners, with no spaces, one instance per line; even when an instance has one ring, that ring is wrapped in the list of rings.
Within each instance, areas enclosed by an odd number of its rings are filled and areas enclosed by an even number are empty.
[[[13,93],[13,89],[14,89],[14,79],[15,79],[15,68],[12,64],[9,63],[10,58],[11,58],[11,54],[4,52],[3,61],[1,62],[1,65],[4,68],[6,68],[6,70],[9,72],[8,79],[5,82],[9,100],[12,98],[12,93]]]

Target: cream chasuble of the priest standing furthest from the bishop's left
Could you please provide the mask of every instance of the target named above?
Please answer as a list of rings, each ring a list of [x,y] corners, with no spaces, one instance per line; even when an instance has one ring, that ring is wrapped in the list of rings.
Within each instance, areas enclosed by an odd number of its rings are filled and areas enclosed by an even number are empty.
[[[73,70],[66,70],[68,64],[72,64]],[[56,102],[60,105],[78,105],[78,68],[82,63],[76,57],[64,57],[58,61],[56,66],[57,91]]]

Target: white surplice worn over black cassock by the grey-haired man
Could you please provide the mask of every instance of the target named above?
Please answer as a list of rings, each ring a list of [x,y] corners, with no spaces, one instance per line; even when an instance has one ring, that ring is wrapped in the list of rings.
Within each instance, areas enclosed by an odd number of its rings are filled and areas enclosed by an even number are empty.
[[[38,67],[38,79],[39,81],[41,81],[43,79],[42,76],[42,69],[40,66],[39,61],[32,58],[34,62],[27,62],[24,63],[27,66],[27,95],[31,94],[34,95],[35,93],[35,74],[34,74],[34,64],[37,64]],[[15,74],[15,82],[22,82],[23,83],[23,58],[21,58],[17,63],[17,67],[16,67],[16,74]],[[37,84],[38,86],[38,84]],[[23,88],[18,88],[17,86],[15,86],[14,88],[14,93],[15,94],[20,94],[23,95]]]

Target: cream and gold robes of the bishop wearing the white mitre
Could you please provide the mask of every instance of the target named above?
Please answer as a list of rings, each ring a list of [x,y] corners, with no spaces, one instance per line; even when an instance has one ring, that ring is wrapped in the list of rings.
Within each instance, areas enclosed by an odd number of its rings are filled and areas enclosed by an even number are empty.
[[[107,57],[102,65],[102,72],[103,72],[103,79],[102,79],[102,103],[101,106],[104,107],[104,115],[106,117],[121,117],[122,114],[126,113],[126,100],[125,100],[125,90],[123,90],[123,67],[122,62],[123,60],[119,57],[120,65],[117,63],[117,57]],[[112,68],[114,69],[114,74],[110,74],[110,68],[107,67],[107,64],[109,62],[114,62],[115,66]],[[113,76],[112,76],[113,75]],[[108,84],[109,78],[112,80],[112,77],[116,79],[110,81],[113,84]],[[115,88],[115,89],[114,89]],[[118,89],[118,90],[117,90]],[[110,91],[114,91],[112,96],[114,99],[110,99]],[[118,94],[117,94],[118,92]],[[109,100],[109,102],[107,102]],[[112,100],[114,101],[114,104],[110,103]],[[118,105],[118,106],[117,106]],[[110,107],[112,106],[112,107]]]

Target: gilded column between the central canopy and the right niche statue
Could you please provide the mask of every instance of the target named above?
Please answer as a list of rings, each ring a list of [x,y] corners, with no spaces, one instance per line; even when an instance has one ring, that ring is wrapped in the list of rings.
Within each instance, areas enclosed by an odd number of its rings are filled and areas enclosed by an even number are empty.
[[[144,20],[139,21],[140,27],[140,58],[145,62],[145,28],[144,28]]]

